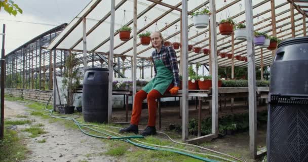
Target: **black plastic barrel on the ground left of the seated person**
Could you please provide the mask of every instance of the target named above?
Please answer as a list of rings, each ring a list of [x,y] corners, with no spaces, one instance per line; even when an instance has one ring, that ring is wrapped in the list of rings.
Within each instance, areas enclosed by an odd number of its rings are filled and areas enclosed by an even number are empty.
[[[83,116],[88,122],[108,121],[108,69],[88,68],[83,82]]]

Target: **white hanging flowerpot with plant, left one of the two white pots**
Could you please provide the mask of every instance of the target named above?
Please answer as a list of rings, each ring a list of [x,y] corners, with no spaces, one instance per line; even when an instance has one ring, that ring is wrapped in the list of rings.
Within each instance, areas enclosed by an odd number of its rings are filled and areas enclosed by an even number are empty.
[[[191,14],[194,20],[194,26],[198,29],[206,28],[209,25],[210,10],[203,8]]]

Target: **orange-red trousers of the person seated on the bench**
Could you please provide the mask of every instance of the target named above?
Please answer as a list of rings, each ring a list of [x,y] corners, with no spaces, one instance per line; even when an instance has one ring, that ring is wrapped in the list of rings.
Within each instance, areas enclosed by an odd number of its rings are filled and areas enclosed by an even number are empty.
[[[166,92],[168,92],[171,88],[173,88],[173,84],[170,84]],[[156,125],[156,109],[157,109],[156,100],[161,97],[162,95],[157,90],[151,90],[148,94],[143,90],[137,92],[134,99],[131,124],[138,126],[141,116],[142,101],[144,99],[147,99],[147,108],[148,108],[147,126],[154,127]]]

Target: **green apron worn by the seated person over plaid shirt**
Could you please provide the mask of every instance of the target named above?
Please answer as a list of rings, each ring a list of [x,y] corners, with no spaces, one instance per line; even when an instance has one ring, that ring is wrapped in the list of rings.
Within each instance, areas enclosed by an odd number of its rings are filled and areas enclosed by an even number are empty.
[[[142,90],[149,93],[154,89],[164,95],[167,88],[172,83],[173,73],[165,66],[162,60],[157,60],[154,63],[157,74],[146,86],[142,88]]]

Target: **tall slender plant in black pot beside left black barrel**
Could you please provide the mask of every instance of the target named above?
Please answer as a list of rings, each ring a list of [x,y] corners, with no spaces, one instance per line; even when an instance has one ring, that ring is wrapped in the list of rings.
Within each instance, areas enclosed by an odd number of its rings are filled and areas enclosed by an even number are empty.
[[[69,55],[66,58],[66,71],[64,71],[64,77],[62,79],[62,91],[66,99],[66,105],[59,108],[60,113],[74,112],[75,91],[80,86],[78,62],[79,60],[75,55]]]

